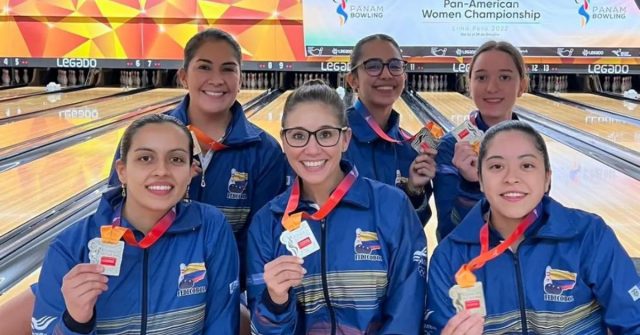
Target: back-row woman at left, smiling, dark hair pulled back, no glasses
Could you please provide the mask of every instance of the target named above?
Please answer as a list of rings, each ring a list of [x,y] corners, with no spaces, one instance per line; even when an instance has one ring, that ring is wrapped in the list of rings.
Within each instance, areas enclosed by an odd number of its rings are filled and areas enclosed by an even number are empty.
[[[216,206],[227,217],[244,287],[247,228],[255,212],[284,191],[286,162],[278,142],[249,122],[236,100],[241,65],[242,50],[231,35],[219,29],[197,33],[185,46],[178,72],[189,93],[169,115],[197,135],[202,153],[189,197]],[[115,174],[110,184],[118,184]]]

